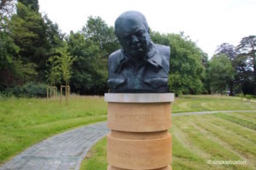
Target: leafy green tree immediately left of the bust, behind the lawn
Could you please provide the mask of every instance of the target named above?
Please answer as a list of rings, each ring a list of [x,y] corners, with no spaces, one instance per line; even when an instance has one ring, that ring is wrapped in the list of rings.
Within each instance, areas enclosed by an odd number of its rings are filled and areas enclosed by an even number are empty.
[[[72,88],[80,94],[104,93],[108,89],[108,59],[102,57],[99,46],[79,32],[71,32],[67,43],[69,52],[77,56],[73,63]]]

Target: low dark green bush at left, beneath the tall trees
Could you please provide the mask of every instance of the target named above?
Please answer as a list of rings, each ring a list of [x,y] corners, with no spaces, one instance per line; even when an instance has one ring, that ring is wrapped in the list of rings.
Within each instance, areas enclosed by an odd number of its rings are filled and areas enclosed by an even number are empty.
[[[16,97],[45,97],[46,87],[47,85],[44,83],[26,82],[26,84],[22,86],[13,88],[12,94]]]

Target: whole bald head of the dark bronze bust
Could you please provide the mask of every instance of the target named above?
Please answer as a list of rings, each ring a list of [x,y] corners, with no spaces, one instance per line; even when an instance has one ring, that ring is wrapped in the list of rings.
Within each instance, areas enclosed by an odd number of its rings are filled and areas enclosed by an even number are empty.
[[[137,11],[121,14],[114,24],[115,34],[125,53],[132,58],[147,54],[150,36],[146,18]]]

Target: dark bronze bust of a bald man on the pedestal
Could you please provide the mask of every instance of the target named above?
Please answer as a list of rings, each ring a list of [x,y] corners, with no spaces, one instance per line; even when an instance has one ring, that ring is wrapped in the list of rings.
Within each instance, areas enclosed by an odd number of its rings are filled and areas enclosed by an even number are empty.
[[[108,58],[109,92],[168,92],[171,50],[151,41],[144,15],[125,12],[115,21],[114,29],[122,48]]]

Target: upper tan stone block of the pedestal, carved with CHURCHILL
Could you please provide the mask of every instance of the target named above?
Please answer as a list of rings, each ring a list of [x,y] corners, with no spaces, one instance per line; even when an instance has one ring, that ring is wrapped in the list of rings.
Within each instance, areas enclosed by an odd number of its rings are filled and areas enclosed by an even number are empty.
[[[155,132],[170,127],[170,103],[108,103],[109,129]]]

